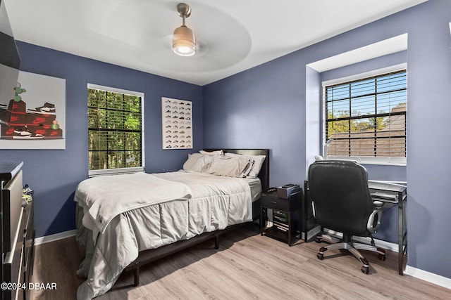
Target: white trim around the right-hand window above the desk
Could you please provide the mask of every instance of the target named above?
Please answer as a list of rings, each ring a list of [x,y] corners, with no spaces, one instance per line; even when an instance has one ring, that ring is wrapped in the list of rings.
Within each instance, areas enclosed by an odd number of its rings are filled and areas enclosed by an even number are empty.
[[[326,145],[326,86],[331,86],[335,84],[342,84],[347,81],[355,81],[359,79],[365,79],[368,77],[376,77],[380,76],[386,73],[390,72],[397,72],[397,71],[406,71],[407,76],[407,63],[402,63],[398,65],[392,65],[390,67],[384,67],[377,70],[371,70],[369,72],[363,72],[359,74],[352,74],[347,77],[340,77],[338,79],[331,79],[327,81],[322,81],[322,127],[321,127],[321,144],[322,144],[322,150],[323,150],[323,157],[324,159],[343,159],[343,160],[352,160],[355,162],[358,162],[359,164],[378,164],[378,165],[390,165],[390,166],[406,166],[407,165],[407,149],[406,149],[406,157],[357,157],[357,156],[350,156],[350,157],[337,157],[337,156],[328,156],[326,155],[327,151],[327,145]],[[406,91],[408,94],[408,91]],[[407,114],[406,114],[407,118]],[[406,120],[407,121],[407,120]],[[406,131],[407,131],[407,125],[406,125]],[[406,141],[407,141],[407,133],[406,133]]]

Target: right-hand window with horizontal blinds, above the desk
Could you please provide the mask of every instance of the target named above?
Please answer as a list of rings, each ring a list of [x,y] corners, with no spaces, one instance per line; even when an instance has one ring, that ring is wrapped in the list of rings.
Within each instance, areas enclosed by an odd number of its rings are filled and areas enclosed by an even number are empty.
[[[324,86],[324,155],[405,164],[406,76],[401,70]]]

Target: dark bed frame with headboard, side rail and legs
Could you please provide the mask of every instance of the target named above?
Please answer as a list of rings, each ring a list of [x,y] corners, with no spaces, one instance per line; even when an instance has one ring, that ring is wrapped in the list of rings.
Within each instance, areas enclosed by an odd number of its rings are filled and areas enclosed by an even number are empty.
[[[214,151],[214,150],[221,150],[221,149],[204,149],[205,151]],[[266,155],[266,159],[261,167],[260,173],[258,177],[261,181],[261,190],[266,190],[269,188],[269,150],[268,149],[222,149],[224,153],[236,153],[241,155]],[[260,199],[255,200],[252,202],[252,219],[256,220],[259,219],[260,216]],[[219,236],[223,233],[226,233],[230,230],[233,230],[235,228],[238,228],[242,224],[236,224],[233,226],[228,226],[227,228],[224,228],[223,230],[216,230],[209,233],[202,233],[200,235],[196,235],[194,237],[191,237],[189,240],[180,240],[178,242],[174,242],[172,244],[166,244],[162,247],[156,248],[156,249],[147,249],[144,251],[141,251],[138,254],[137,259],[135,261],[132,261],[130,265],[128,265],[123,271],[128,272],[130,270],[133,270],[133,277],[134,277],[134,285],[140,285],[140,267],[147,265],[148,263],[152,263],[152,261],[156,261],[158,259],[162,259],[165,256],[174,254],[176,252],[179,252],[183,249],[192,247],[196,244],[199,244],[201,242],[204,242],[206,240],[213,239],[215,240],[215,249],[219,248]]]

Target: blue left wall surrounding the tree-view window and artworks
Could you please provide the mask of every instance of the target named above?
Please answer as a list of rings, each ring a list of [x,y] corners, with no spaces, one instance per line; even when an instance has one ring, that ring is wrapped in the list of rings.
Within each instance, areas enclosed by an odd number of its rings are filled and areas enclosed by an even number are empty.
[[[87,83],[144,93],[147,172],[180,169],[202,148],[202,87],[97,60],[18,42],[20,69],[66,79],[66,150],[0,150],[0,160],[23,161],[23,181],[35,190],[36,235],[75,229],[73,193],[88,176]],[[193,103],[194,150],[161,149],[161,97]]]

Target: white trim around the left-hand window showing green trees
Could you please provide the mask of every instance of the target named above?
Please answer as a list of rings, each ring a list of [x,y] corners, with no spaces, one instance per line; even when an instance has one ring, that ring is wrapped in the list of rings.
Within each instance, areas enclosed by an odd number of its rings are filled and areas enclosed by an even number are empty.
[[[128,167],[118,169],[102,169],[102,170],[88,170],[89,177],[102,176],[102,175],[115,175],[115,174],[130,174],[138,171],[144,171],[145,169],[145,150],[144,150],[144,93],[138,91],[129,91],[125,89],[113,88],[111,86],[101,86],[99,84],[87,83],[87,89],[97,89],[101,91],[107,91],[112,93],[123,93],[131,96],[137,96],[141,98],[141,167]],[[87,97],[86,97],[87,99]],[[89,149],[88,149],[89,152]],[[89,166],[88,166],[89,169]]]

